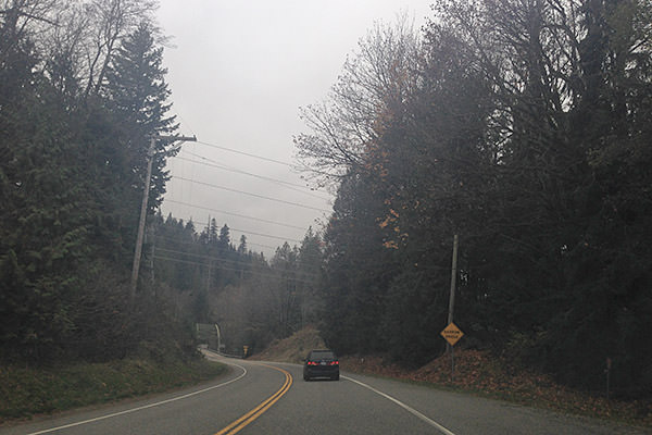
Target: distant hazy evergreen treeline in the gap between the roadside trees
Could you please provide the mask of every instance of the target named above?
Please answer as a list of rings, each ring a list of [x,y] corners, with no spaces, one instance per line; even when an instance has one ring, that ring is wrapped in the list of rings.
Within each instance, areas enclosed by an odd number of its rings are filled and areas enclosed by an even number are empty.
[[[300,247],[285,243],[268,261],[246,236],[236,247],[228,225],[218,228],[214,219],[198,233],[192,221],[156,214],[152,233],[147,256],[158,291],[176,318],[218,324],[227,352],[263,350],[317,321],[322,241],[312,229]]]

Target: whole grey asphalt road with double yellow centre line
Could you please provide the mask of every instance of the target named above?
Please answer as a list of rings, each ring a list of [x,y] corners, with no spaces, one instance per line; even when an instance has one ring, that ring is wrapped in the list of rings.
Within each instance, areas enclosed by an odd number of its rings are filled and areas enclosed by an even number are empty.
[[[304,382],[301,366],[227,360],[195,388],[0,428],[9,434],[650,434],[588,419],[342,372]]]

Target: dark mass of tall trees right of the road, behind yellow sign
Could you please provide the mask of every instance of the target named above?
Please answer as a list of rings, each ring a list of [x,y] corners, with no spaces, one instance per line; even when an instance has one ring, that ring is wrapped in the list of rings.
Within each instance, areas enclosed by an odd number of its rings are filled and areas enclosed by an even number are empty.
[[[652,4],[448,0],[377,26],[296,139],[338,182],[323,331],[419,364],[455,323],[587,388],[652,393]]]

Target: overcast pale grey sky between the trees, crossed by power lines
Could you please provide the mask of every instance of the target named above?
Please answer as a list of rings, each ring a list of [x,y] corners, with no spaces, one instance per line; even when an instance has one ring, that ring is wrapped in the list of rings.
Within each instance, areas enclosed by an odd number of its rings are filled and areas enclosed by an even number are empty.
[[[249,248],[267,258],[285,239],[299,245],[296,240],[309,226],[319,231],[331,209],[327,192],[296,186],[305,183],[286,164],[209,145],[293,163],[292,136],[305,132],[299,108],[326,97],[347,55],[374,22],[393,23],[406,11],[418,27],[429,4],[430,0],[161,0],[158,18],[164,34],[173,37],[164,62],[174,113],[179,133],[199,140],[186,142],[179,158],[170,160],[173,179],[163,213],[184,221],[192,217],[198,231],[209,215],[215,217],[220,226],[231,228],[234,244],[246,234]]]

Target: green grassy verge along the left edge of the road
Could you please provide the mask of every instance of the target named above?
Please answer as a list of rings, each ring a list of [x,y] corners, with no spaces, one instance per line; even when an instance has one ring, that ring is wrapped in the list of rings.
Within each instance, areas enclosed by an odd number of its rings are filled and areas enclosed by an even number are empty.
[[[224,364],[120,360],[26,369],[0,366],[0,422],[161,393],[213,378]]]

